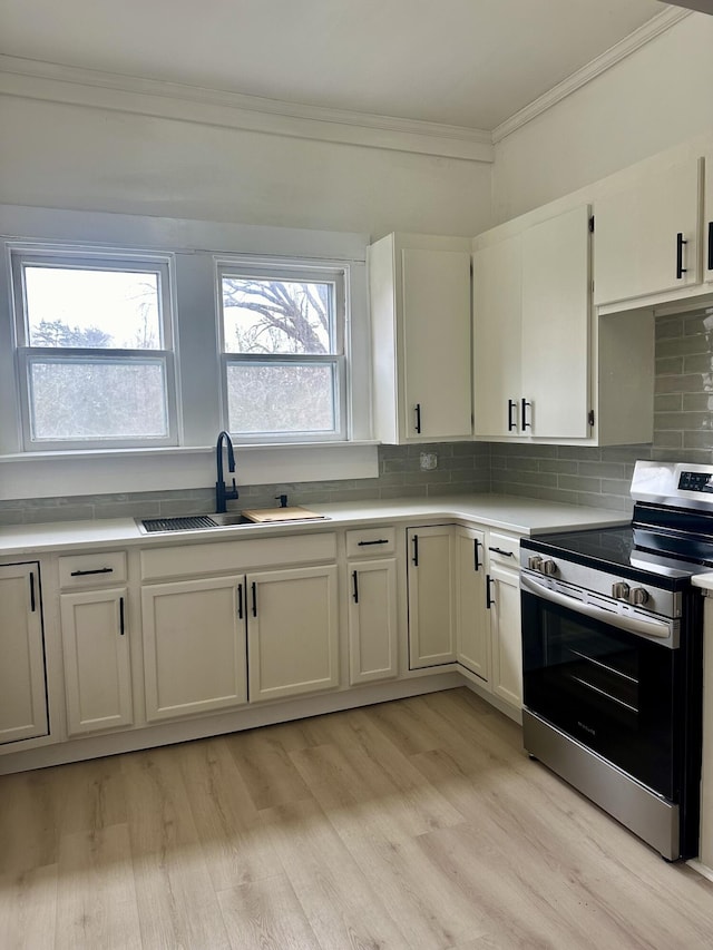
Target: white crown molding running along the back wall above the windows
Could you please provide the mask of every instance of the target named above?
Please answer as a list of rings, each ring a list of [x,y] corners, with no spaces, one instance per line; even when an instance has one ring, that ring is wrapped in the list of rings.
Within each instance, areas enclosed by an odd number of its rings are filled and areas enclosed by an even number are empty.
[[[489,131],[295,105],[221,89],[0,55],[0,94],[266,135],[494,160]]]

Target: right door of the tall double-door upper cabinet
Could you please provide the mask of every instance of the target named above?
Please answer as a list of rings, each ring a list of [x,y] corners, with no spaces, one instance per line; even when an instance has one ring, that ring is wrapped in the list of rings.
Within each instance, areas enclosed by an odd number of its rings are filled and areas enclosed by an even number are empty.
[[[589,208],[522,235],[522,434],[589,434]]]

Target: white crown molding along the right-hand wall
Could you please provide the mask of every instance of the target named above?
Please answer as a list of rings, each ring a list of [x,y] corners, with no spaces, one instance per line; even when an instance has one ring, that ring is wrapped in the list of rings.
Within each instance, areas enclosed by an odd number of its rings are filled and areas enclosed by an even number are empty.
[[[647,23],[644,23],[643,27],[634,30],[634,32],[629,33],[625,39],[607,49],[606,52],[597,56],[582,69],[578,69],[576,72],[573,72],[572,76],[563,79],[563,81],[558,82],[557,86],[553,86],[551,89],[548,89],[547,92],[539,96],[528,106],[525,106],[525,108],[519,109],[519,111],[510,116],[509,119],[500,123],[500,125],[492,130],[494,145],[501,141],[514,131],[517,131],[517,129],[527,125],[527,123],[531,121],[537,116],[546,112],[547,109],[551,109],[551,107],[557,105],[557,102],[560,102],[563,99],[566,99],[567,96],[576,92],[577,89],[582,89],[583,86],[586,86],[587,82],[592,82],[593,79],[596,79],[597,76],[606,72],[607,69],[612,69],[612,67],[616,66],[617,62],[621,62],[623,59],[626,59],[626,57],[632,56],[632,53],[636,52],[637,49],[641,49],[643,46],[646,46],[646,43],[656,39],[656,37],[666,32],[666,30],[670,30],[671,27],[675,26],[681,20],[690,17],[692,12],[692,10],[683,10],[680,7],[670,7],[667,10],[663,10],[661,13],[657,13],[648,20]]]

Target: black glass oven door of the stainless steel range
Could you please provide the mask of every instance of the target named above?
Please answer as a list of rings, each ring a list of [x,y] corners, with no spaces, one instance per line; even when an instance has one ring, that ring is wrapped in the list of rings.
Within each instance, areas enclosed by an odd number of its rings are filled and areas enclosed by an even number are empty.
[[[680,650],[522,590],[524,705],[670,801]]]

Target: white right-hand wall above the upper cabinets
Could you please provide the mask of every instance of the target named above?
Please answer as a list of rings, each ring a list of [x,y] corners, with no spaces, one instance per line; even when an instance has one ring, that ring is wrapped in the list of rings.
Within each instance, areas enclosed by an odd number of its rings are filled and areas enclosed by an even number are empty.
[[[494,223],[713,130],[713,17],[693,13],[496,145]]]

